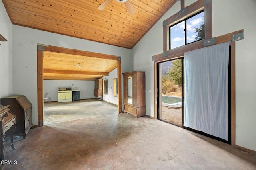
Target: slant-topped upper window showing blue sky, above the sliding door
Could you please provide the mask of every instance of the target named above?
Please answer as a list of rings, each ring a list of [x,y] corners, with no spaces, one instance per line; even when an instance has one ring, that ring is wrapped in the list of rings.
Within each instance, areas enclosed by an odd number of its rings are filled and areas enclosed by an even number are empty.
[[[169,32],[170,49],[204,39],[204,10],[171,25]]]

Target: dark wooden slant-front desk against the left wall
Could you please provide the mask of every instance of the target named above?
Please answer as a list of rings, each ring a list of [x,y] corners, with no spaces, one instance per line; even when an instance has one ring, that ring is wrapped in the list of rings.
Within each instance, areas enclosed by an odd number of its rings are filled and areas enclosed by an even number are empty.
[[[2,105],[10,105],[10,111],[16,115],[16,129],[14,135],[23,136],[26,138],[26,134],[32,127],[32,104],[28,99],[23,96],[9,96],[1,98]]]

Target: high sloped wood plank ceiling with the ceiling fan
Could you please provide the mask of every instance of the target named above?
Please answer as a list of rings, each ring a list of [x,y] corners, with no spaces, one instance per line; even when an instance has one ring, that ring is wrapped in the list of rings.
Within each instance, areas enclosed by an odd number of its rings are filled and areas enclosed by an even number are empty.
[[[132,49],[176,0],[2,0],[15,25]]]

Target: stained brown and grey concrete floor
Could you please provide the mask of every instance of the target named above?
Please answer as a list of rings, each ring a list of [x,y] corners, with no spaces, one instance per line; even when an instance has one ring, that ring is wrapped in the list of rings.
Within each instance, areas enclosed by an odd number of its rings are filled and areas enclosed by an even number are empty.
[[[57,122],[31,129],[26,139],[15,141],[16,150],[6,149],[6,160],[17,160],[7,170],[256,169],[256,155],[186,129],[119,115],[116,106],[102,101],[70,104],[75,106],[69,113],[60,104],[61,112],[82,119],[54,117]]]

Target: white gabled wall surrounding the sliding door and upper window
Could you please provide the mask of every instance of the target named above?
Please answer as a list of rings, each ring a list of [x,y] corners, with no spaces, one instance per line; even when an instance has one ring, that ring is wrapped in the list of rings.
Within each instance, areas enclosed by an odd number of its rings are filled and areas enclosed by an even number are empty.
[[[189,6],[195,1],[185,1]],[[189,4],[188,4],[189,3]],[[236,145],[256,151],[256,1],[212,0],[213,37],[244,29],[244,39],[236,42]],[[154,62],[163,52],[162,21],[180,10],[180,2],[148,31],[132,49],[134,70],[146,71],[146,115],[154,117]],[[148,93],[151,90],[151,93]]]

